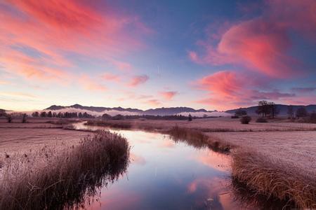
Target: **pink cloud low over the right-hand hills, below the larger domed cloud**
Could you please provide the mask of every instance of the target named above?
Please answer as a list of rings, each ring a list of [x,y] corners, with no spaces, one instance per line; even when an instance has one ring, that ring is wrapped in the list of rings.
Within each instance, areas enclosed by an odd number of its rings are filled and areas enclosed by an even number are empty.
[[[283,100],[296,97],[295,94],[278,90],[258,90],[260,85],[256,85],[254,78],[234,71],[218,71],[198,80],[197,84],[208,92],[208,97],[197,103],[216,106],[217,109],[253,105],[262,99]]]

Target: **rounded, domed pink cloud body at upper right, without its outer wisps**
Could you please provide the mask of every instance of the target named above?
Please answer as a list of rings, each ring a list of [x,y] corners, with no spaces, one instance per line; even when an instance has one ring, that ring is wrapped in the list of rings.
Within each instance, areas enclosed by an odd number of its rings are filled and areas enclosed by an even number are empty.
[[[291,43],[284,27],[256,19],[231,27],[218,43],[218,52],[230,62],[246,64],[265,75],[287,78],[296,74],[294,57],[287,55]]]

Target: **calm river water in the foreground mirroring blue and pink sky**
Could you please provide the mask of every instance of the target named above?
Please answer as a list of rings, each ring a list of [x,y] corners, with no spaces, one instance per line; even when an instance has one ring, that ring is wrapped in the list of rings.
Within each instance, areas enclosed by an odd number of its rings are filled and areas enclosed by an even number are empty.
[[[131,145],[131,164],[119,181],[102,189],[93,209],[236,209],[226,187],[228,156],[163,134],[119,133]]]

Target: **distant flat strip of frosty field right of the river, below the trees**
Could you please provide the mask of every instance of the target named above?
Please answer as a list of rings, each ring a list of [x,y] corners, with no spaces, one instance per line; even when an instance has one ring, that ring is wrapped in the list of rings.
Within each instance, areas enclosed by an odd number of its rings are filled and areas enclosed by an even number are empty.
[[[316,124],[292,123],[287,119],[275,119],[269,123],[256,123],[253,118],[249,125],[242,125],[239,119],[232,118],[204,118],[191,122],[187,120],[91,120],[91,125],[109,127],[134,128],[140,130],[169,130],[178,125],[202,132],[254,132],[254,131],[316,131]]]

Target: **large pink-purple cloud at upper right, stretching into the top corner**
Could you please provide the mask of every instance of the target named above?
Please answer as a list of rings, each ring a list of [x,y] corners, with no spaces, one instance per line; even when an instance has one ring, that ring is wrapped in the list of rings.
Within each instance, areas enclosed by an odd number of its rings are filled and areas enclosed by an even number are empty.
[[[303,64],[289,55],[289,32],[296,31],[316,41],[312,32],[316,28],[315,7],[312,0],[268,1],[261,17],[232,25],[217,45],[217,36],[209,31],[209,40],[197,42],[204,53],[190,51],[189,57],[198,64],[236,64],[271,78],[302,75]]]

